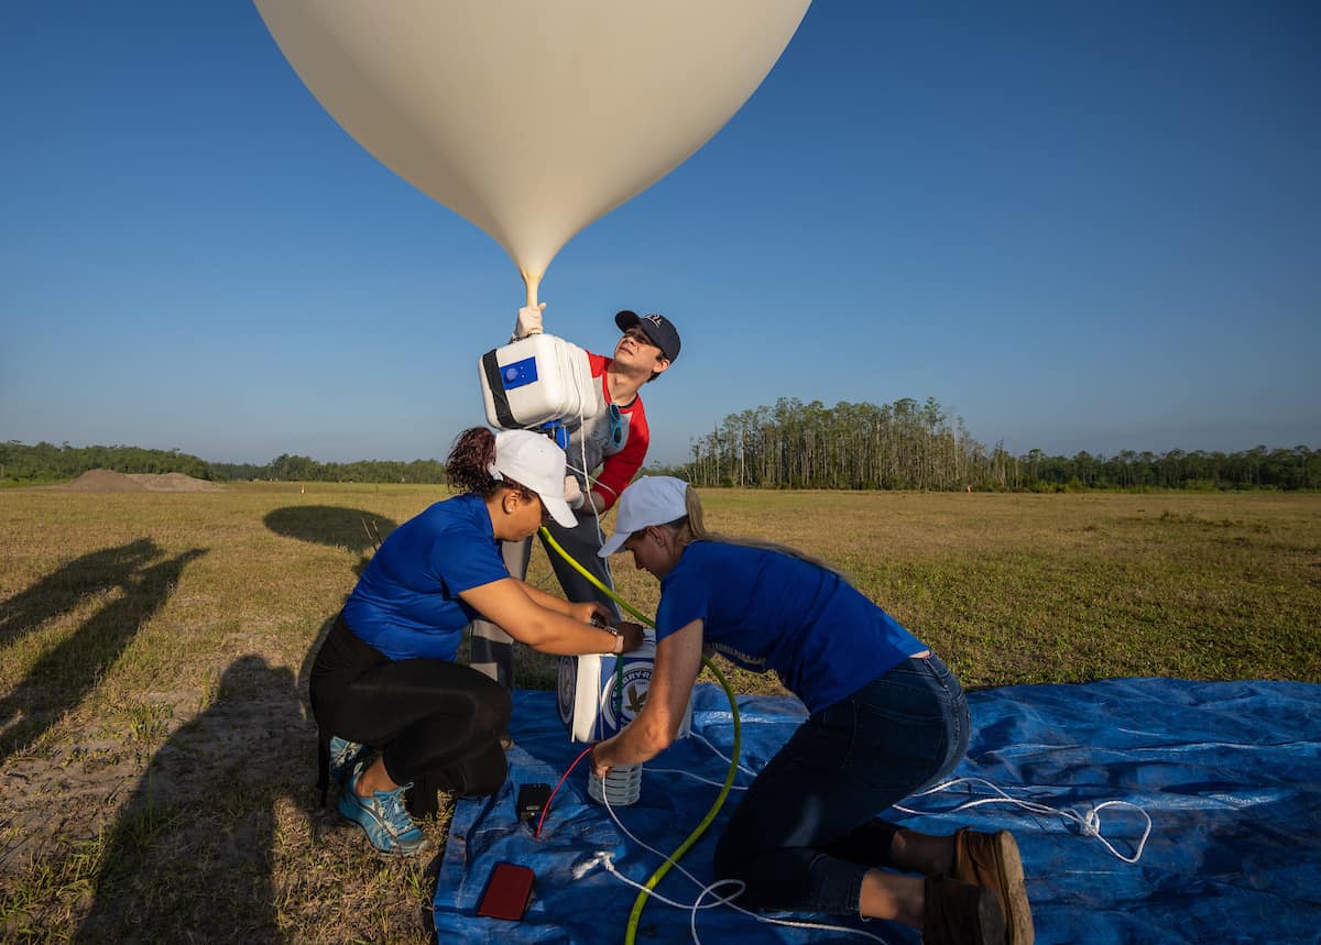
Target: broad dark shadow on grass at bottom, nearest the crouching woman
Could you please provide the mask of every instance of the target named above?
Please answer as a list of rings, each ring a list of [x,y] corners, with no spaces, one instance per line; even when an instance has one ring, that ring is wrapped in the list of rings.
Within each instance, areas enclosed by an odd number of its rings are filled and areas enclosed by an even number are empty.
[[[215,702],[156,752],[104,835],[74,940],[279,941],[275,837],[300,828],[279,824],[276,802],[314,760],[291,752],[312,751],[292,731],[300,718],[288,669],[255,655],[230,664]]]

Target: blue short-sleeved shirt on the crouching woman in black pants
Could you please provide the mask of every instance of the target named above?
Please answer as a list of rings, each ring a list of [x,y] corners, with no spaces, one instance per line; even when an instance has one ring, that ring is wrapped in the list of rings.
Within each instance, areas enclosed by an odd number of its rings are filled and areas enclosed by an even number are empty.
[[[343,606],[354,635],[391,660],[453,660],[480,614],[458,595],[509,577],[485,500],[437,502],[380,544]]]

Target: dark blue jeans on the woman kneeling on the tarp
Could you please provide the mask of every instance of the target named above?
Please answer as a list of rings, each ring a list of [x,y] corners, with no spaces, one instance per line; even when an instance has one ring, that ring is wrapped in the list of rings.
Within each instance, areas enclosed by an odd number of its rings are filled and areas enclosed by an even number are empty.
[[[738,904],[857,916],[863,876],[889,864],[877,814],[968,748],[968,701],[935,656],[908,659],[807,718],[753,781],[715,854]]]

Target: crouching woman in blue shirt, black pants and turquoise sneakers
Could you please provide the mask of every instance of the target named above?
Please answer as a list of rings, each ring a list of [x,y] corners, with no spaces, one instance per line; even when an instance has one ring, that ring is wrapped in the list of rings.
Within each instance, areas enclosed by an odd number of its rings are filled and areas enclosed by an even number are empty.
[[[339,813],[383,853],[427,847],[408,812],[435,813],[437,791],[489,795],[505,783],[509,692],[454,663],[473,619],[543,653],[620,653],[642,643],[635,624],[605,627],[600,603],[568,603],[505,568],[499,542],[531,537],[547,517],[575,524],[559,446],[527,430],[473,428],[456,440],[445,472],[466,492],[390,533],[312,669],[320,787],[332,775],[342,781]]]

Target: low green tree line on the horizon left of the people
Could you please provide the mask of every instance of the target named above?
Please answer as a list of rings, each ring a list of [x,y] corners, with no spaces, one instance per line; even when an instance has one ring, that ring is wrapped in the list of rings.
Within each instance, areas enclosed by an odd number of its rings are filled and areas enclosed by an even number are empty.
[[[322,463],[285,453],[262,465],[218,463],[180,450],[148,450],[140,446],[54,446],[46,442],[28,446],[16,440],[0,443],[0,482],[59,482],[75,479],[95,469],[115,472],[182,472],[210,482],[445,482],[445,465],[436,459]]]

